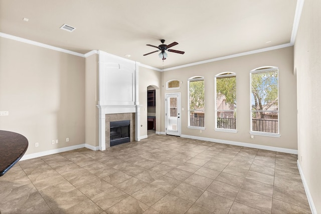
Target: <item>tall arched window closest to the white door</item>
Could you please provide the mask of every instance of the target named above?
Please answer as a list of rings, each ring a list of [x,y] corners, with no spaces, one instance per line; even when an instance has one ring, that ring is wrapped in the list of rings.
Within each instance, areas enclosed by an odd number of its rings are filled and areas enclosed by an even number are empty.
[[[190,78],[188,87],[189,128],[204,129],[204,78]]]

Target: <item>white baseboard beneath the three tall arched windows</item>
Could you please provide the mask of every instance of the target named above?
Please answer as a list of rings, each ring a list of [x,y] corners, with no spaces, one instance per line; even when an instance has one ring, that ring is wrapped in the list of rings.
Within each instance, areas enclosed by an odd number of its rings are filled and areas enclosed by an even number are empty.
[[[230,140],[220,140],[220,139],[214,139],[214,138],[208,138],[208,137],[198,137],[198,136],[185,135],[185,134],[182,134],[181,137],[196,139],[196,140],[205,140],[205,141],[210,141],[210,142],[215,142],[215,143],[224,143],[224,144],[230,144],[230,145],[236,145],[236,146],[245,146],[245,147],[250,147],[250,148],[278,151],[278,152],[284,152],[284,153],[290,153],[290,154],[297,154],[297,150],[295,150],[295,149],[287,149],[287,148],[280,148],[280,147],[274,147],[274,146],[264,146],[264,145],[243,143],[243,142],[230,141]]]

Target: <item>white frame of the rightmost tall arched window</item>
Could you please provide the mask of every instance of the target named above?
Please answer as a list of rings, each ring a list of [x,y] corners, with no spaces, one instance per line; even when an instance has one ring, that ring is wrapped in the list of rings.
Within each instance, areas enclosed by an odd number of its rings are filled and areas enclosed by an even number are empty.
[[[277,131],[278,133],[271,133],[271,132],[261,132],[261,131],[253,131],[253,110],[252,110],[252,74],[257,73],[266,73],[266,72],[273,72],[277,71],[277,100],[278,100],[278,108],[277,111],[275,110],[264,110],[264,112],[277,112],[278,120],[277,120]],[[267,137],[280,137],[280,107],[279,107],[279,95],[280,95],[280,81],[279,81],[279,69],[275,66],[263,66],[256,69],[253,69],[250,71],[250,134],[251,135],[261,135],[261,136],[267,136]],[[258,111],[258,110],[257,110]]]

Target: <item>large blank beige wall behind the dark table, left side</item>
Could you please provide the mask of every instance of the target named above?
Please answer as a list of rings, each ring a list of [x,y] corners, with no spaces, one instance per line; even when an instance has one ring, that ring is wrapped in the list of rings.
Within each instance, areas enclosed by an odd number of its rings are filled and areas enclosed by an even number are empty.
[[[84,93],[84,58],[0,37],[0,130],[27,137],[26,154],[85,142]]]

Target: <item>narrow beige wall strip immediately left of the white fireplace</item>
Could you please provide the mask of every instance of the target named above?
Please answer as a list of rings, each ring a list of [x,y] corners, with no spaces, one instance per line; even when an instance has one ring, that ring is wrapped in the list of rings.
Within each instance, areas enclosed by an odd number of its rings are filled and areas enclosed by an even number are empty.
[[[85,75],[85,143],[92,146],[99,146],[98,138],[98,54],[86,58]]]

